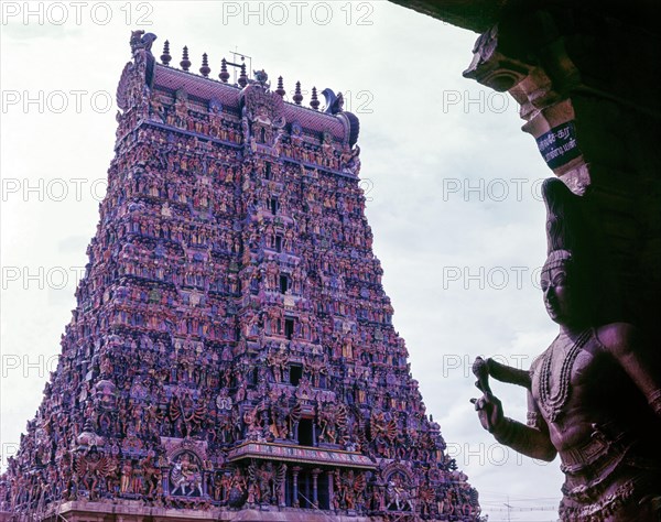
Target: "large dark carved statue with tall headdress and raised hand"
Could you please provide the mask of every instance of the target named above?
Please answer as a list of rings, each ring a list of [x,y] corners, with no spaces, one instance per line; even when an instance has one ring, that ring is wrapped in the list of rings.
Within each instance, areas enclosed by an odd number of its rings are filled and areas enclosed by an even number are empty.
[[[566,521],[661,520],[661,363],[633,325],[599,325],[579,198],[544,184],[549,255],[544,305],[560,333],[525,372],[477,358],[473,399],[496,439],[532,458],[561,458]],[[488,377],[528,389],[528,423],[503,416]]]

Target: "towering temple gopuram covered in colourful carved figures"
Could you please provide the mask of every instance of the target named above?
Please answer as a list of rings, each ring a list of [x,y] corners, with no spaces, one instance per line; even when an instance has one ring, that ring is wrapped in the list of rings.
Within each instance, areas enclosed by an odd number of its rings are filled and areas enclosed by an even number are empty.
[[[412,378],[342,95],[131,36],[116,155],[3,520],[479,520]],[[229,83],[229,68],[237,84]]]

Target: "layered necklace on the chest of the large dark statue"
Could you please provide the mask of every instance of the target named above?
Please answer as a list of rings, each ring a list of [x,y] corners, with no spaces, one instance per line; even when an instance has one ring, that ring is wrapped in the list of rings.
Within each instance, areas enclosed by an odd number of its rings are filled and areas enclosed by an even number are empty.
[[[571,392],[571,380],[572,380],[572,368],[574,366],[574,361],[581,349],[585,346],[588,339],[592,336],[592,329],[587,329],[583,331],[576,340],[574,345],[568,349],[568,351],[564,355],[562,365],[560,367],[560,382],[557,384],[557,390],[555,393],[551,391],[551,378],[553,372],[553,351],[556,350],[546,350],[544,354],[544,358],[542,360],[541,374],[539,380],[539,394],[540,394],[540,405],[545,413],[546,418],[551,422],[555,422],[557,417],[563,413],[564,406],[570,399]]]

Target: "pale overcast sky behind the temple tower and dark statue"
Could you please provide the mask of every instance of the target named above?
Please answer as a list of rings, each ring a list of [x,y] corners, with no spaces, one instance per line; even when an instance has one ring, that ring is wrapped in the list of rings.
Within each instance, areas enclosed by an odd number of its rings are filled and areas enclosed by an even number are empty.
[[[360,118],[362,185],[394,326],[427,412],[490,521],[556,520],[562,474],[503,450],[479,425],[475,356],[528,368],[549,346],[537,273],[539,183],[551,175],[516,104],[464,79],[475,33],[384,1],[3,2],[1,21],[2,460],[32,417],[98,221],[115,91],[131,29],[187,45],[212,75],[238,50],[291,91],[330,87]],[[286,19],[286,20],[285,20]],[[290,95],[291,96],[291,95]],[[305,97],[304,104],[310,101]],[[522,389],[495,384],[525,417]],[[522,511],[524,508],[546,511]]]

